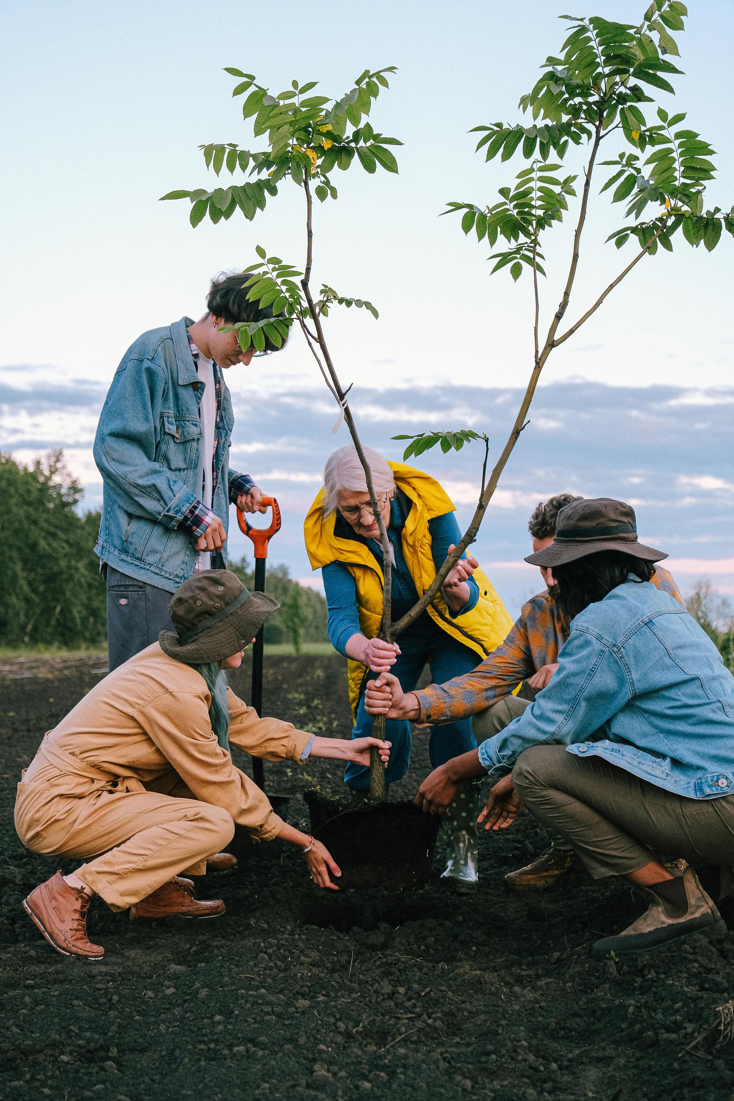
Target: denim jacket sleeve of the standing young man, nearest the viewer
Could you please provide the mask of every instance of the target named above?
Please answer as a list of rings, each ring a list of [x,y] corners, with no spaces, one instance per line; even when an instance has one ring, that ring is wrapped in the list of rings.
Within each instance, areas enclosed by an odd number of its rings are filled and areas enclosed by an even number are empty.
[[[123,363],[105,403],[95,461],[125,512],[176,527],[197,498],[156,460],[168,389],[168,372],[157,357]],[[198,424],[191,427],[198,435]]]

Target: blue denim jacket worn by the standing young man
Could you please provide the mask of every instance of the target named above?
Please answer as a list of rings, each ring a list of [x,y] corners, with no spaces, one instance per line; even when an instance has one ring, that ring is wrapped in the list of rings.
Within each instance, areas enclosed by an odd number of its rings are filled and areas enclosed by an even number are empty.
[[[198,534],[189,523],[201,492],[199,382],[183,317],[151,329],[125,352],[107,394],[95,438],[105,481],[96,552],[103,563],[141,581],[175,591],[194,573]],[[247,476],[228,468],[233,416],[222,384],[211,511],[227,531],[230,500]],[[206,511],[206,510],[204,510]]]

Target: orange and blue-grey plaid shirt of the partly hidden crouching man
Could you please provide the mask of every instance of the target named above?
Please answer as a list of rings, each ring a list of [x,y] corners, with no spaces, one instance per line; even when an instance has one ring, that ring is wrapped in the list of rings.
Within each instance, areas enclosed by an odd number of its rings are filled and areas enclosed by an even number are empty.
[[[667,569],[655,567],[651,581],[681,604],[678,586]],[[453,722],[483,711],[532,677],[544,665],[558,661],[563,644],[556,609],[548,591],[523,604],[519,619],[510,634],[481,665],[442,685],[429,685],[415,695],[420,705],[419,722]]]

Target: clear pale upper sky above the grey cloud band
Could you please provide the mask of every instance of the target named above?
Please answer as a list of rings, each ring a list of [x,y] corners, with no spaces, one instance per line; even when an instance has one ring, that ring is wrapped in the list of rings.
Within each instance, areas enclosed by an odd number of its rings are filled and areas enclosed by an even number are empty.
[[[341,95],[365,66],[394,64],[399,72],[372,118],[404,140],[401,175],[336,171],[339,201],[317,219],[316,277],[364,295],[381,312],[379,323],[354,312],[335,319],[342,373],[355,383],[458,375],[480,385],[519,382],[528,368],[529,282],[490,281],[485,246],[467,241],[458,219],[437,215],[448,199],[493,198],[524,165],[486,166],[467,131],[521,117],[521,92],[568,28],[556,18],[563,3],[6,0],[0,301],[12,324],[1,361],[46,362],[107,380],[139,333],[185,312],[196,316],[212,272],[244,266],[255,243],[300,260],[302,193],[288,182],[252,224],[238,214],[195,231],[187,204],[156,201],[174,187],[207,182],[200,142],[251,139],[222,66],[255,72],[274,91],[296,76],[320,78],[322,90]],[[595,0],[589,11],[638,21],[645,7]],[[710,194],[728,207],[734,6],[692,0],[690,12],[690,30],[679,35],[680,67],[690,75],[677,78],[676,109],[688,109],[691,126],[719,151],[722,182]],[[617,145],[612,138],[610,155]],[[571,315],[626,255],[596,248],[622,216],[606,199],[596,204]],[[560,233],[552,237],[560,243]],[[551,359],[547,381],[581,374],[687,384],[695,374],[703,383],[727,382],[732,243],[727,238],[711,257],[679,247],[646,261]],[[557,301],[554,290],[548,308]],[[293,345],[277,374],[274,363],[253,369],[259,390],[284,373],[314,380],[300,341]]]

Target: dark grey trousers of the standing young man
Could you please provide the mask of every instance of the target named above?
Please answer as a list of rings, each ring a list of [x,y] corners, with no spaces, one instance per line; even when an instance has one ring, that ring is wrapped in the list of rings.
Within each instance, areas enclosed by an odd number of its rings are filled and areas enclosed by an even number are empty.
[[[173,592],[121,574],[107,570],[107,648],[109,669],[117,669],[153,642],[161,631],[173,631],[168,604]]]

